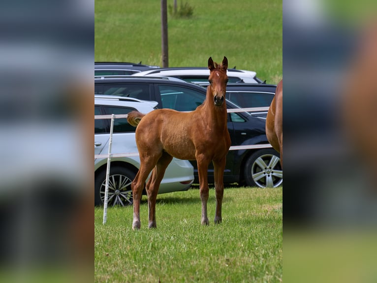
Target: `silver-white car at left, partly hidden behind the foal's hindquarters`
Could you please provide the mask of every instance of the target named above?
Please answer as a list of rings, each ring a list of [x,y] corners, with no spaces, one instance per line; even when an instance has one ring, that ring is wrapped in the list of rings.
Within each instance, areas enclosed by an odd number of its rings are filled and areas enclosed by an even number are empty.
[[[132,110],[148,113],[157,102],[119,96],[94,96],[94,115],[127,114]],[[94,154],[107,154],[111,119],[94,120]],[[114,119],[111,153],[137,153],[136,128],[126,118]],[[94,205],[103,204],[107,158],[94,158]],[[139,156],[112,157],[110,164],[108,205],[133,203],[131,181],[140,168]],[[173,158],[166,169],[158,193],[188,190],[194,180],[193,167],[187,160]]]

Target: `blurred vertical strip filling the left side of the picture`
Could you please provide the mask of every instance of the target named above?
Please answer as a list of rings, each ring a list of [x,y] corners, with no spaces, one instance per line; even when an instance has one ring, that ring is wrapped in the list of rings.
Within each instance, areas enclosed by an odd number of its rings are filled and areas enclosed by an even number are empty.
[[[2,282],[93,280],[93,15],[85,0],[1,4]]]

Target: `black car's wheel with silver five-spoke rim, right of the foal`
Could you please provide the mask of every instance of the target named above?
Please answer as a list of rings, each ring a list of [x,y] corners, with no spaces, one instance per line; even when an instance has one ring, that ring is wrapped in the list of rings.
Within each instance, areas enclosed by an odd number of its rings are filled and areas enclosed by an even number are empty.
[[[245,181],[248,186],[277,187],[283,183],[279,153],[272,149],[255,151],[246,162]]]

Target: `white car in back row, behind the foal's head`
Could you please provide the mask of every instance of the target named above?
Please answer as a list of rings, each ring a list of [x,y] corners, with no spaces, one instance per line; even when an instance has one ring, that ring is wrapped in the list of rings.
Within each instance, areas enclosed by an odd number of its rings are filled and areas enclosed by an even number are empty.
[[[228,69],[227,73],[229,82],[245,82],[245,83],[263,83],[256,77],[256,72]],[[208,68],[159,68],[147,71],[141,71],[132,75],[136,76],[170,76],[183,79],[188,82],[208,84],[210,70]]]

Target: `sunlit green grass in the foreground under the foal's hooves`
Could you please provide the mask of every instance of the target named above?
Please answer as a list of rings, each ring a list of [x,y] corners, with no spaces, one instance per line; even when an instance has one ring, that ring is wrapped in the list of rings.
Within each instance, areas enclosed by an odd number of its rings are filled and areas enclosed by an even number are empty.
[[[147,198],[141,229],[132,207],[94,209],[95,282],[281,282],[283,189],[226,188],[223,221],[215,225],[215,191],[209,226],[200,224],[198,189],[158,195],[157,229],[148,229]]]

